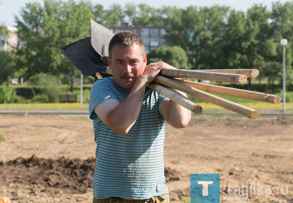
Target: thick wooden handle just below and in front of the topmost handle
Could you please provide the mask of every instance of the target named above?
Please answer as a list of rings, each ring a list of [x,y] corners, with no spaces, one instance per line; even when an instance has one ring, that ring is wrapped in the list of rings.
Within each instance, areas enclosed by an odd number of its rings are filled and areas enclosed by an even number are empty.
[[[212,80],[218,82],[230,82],[244,84],[247,81],[246,75],[231,74],[231,73],[213,73],[197,70],[182,70],[164,68],[159,73],[160,75],[169,76],[172,78],[193,78],[198,80]]]

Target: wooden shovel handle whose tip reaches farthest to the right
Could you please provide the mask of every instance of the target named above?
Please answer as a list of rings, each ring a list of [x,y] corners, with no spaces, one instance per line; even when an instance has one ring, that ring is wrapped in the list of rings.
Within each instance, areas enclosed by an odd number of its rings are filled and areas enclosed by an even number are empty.
[[[254,92],[249,90],[240,90],[236,88],[231,87],[222,87],[218,85],[209,85],[204,84],[200,82],[193,82],[188,80],[178,80],[175,78],[172,78],[172,80],[175,80],[177,82],[180,82],[184,85],[188,85],[190,87],[197,88],[199,90],[205,91],[205,92],[213,92],[217,94],[224,94],[229,95],[233,97],[240,97],[244,99],[252,99],[260,102],[268,102],[272,104],[279,104],[281,102],[281,98],[277,95],[273,94],[265,94],[261,92]]]

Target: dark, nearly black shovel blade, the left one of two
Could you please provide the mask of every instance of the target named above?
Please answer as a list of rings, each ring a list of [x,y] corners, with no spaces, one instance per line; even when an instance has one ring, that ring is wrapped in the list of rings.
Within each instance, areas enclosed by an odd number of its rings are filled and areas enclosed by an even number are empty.
[[[93,49],[91,37],[79,39],[60,51],[84,76],[104,72],[108,66]]]

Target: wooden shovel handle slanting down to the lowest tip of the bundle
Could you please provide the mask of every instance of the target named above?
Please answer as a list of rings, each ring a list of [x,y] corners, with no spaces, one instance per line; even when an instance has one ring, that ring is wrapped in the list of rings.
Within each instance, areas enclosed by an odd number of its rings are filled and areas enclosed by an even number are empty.
[[[246,116],[251,119],[255,119],[258,117],[258,111],[248,108],[246,106],[242,106],[240,104],[228,101],[226,99],[223,99],[221,97],[217,97],[213,94],[209,94],[207,92],[197,90],[194,87],[190,87],[188,85],[181,84],[180,82],[174,81],[170,78],[163,77],[161,75],[158,75],[155,79],[156,82],[159,82],[163,85],[167,85],[168,87],[172,87],[174,89],[177,89],[179,91],[185,92],[187,94],[193,95],[199,99],[202,99],[206,102],[216,104],[217,106],[221,106],[225,109],[228,109],[230,111],[233,111],[235,113],[239,113],[243,116]]]

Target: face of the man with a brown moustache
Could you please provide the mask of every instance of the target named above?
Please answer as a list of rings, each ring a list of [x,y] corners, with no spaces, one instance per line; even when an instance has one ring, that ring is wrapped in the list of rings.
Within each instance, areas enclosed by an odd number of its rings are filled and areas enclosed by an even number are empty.
[[[117,84],[131,90],[137,77],[144,73],[147,66],[147,56],[142,56],[137,44],[130,48],[121,48],[115,44],[112,48],[112,58],[108,58],[109,68]]]

